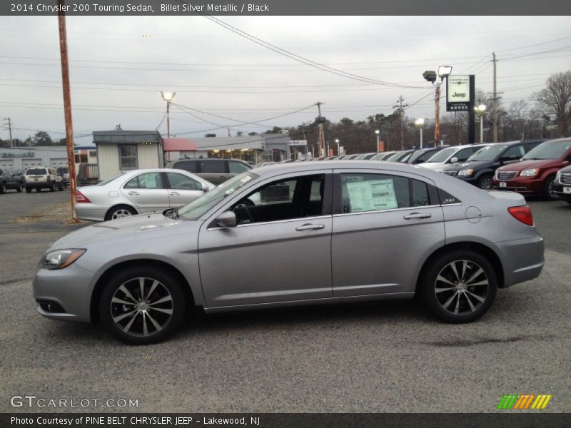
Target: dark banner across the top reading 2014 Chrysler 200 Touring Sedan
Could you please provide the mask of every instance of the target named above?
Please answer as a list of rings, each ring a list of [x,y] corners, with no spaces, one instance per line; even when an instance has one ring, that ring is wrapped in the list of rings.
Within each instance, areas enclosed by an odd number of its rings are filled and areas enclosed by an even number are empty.
[[[0,15],[565,16],[568,0],[2,0]]]

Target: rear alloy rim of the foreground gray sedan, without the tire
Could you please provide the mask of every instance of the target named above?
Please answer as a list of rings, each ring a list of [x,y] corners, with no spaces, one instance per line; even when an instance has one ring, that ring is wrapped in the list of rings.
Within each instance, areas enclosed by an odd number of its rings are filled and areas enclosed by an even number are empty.
[[[487,299],[490,282],[485,270],[472,260],[455,260],[436,277],[434,292],[438,304],[453,315],[469,315]]]

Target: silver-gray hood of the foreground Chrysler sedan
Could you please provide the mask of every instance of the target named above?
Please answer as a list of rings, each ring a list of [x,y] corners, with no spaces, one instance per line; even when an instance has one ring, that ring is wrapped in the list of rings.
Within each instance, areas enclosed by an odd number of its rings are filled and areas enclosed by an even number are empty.
[[[162,213],[133,215],[118,220],[87,226],[65,235],[50,245],[48,250],[64,248],[85,248],[86,245],[105,241],[106,245],[125,243],[128,240],[153,239],[180,233],[181,223],[196,223],[173,220]]]

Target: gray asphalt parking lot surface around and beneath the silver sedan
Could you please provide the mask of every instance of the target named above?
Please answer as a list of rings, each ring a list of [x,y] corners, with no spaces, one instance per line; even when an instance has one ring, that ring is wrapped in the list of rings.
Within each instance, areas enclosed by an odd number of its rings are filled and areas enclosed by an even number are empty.
[[[413,302],[195,317],[172,340],[122,345],[101,327],[36,313],[31,278],[65,223],[68,192],[0,195],[0,412],[11,397],[129,399],[136,412],[498,412],[503,394],[571,409],[571,205],[530,200],[545,238],[534,281],[500,290],[479,322]]]

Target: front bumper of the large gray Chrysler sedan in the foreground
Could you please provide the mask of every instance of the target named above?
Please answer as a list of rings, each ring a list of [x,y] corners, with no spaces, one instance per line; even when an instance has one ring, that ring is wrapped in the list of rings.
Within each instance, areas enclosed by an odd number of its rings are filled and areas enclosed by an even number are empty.
[[[61,270],[40,267],[32,282],[38,312],[51,320],[90,322],[91,295],[100,275],[77,263]]]

